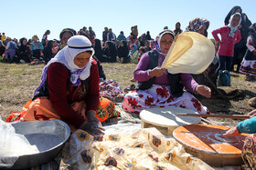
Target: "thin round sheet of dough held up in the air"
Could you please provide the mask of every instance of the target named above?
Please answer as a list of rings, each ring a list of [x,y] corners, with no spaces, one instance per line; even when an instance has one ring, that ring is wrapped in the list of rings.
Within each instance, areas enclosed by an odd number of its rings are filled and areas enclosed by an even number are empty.
[[[200,74],[208,68],[214,56],[214,45],[207,37],[196,32],[184,32],[176,36],[162,68],[171,74]]]

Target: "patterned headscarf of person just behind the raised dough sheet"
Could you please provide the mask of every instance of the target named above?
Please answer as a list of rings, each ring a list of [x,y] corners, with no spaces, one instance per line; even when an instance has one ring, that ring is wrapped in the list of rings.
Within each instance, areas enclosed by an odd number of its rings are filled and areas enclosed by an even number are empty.
[[[207,25],[206,30],[208,30],[209,21],[206,18],[197,17],[189,22],[186,31],[197,32],[203,25]]]

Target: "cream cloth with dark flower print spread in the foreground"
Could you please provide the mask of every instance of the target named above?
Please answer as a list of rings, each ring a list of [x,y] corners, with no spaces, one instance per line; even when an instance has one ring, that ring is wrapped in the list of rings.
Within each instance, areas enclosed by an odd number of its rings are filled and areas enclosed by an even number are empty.
[[[212,169],[186,153],[175,139],[166,139],[155,128],[117,135],[104,135],[92,142],[91,135],[77,131],[65,145],[59,169]]]

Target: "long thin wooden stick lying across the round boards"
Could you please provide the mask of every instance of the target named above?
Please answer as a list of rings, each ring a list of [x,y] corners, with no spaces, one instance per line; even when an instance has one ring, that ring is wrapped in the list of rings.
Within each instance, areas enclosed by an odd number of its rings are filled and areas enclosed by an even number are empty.
[[[229,119],[248,119],[250,115],[197,115],[197,114],[177,114],[181,116],[193,116],[193,117],[219,117]]]

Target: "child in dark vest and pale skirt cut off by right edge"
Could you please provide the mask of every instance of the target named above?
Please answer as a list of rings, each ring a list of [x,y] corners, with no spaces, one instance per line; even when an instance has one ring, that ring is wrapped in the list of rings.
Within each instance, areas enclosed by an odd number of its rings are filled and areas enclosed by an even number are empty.
[[[256,80],[256,23],[250,26],[251,31],[247,38],[247,51],[241,62],[240,73],[246,74],[246,80]]]

